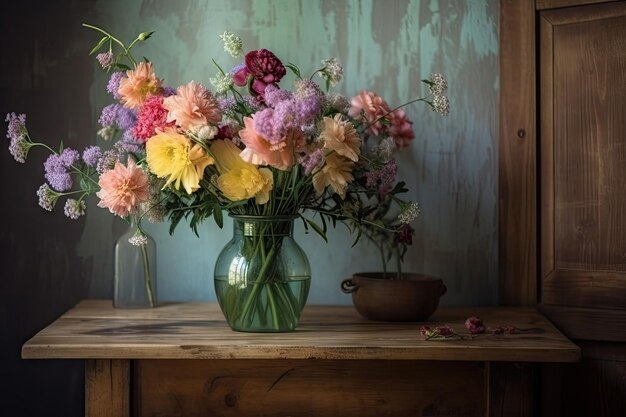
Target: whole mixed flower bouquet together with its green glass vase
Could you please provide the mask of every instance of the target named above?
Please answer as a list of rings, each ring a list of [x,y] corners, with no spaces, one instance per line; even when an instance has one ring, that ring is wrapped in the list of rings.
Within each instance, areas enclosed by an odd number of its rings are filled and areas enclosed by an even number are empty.
[[[51,153],[38,191],[43,208],[66,198],[65,214],[76,219],[96,194],[100,207],[137,220],[140,245],[144,218],[167,219],[170,232],[185,219],[198,234],[207,217],[222,227],[223,212],[232,216],[235,236],[218,258],[215,284],[233,329],[295,328],[310,281],[306,255],[291,236],[295,219],[325,240],[337,222],[357,239],[362,231],[370,235],[369,227],[409,230],[416,205],[398,196],[403,184],[388,189],[393,155],[414,137],[401,107],[421,101],[447,113],[440,76],[423,80],[430,87],[424,97],[396,108],[365,90],[350,100],[332,92],[343,76],[336,59],[304,76],[267,49],[244,54],[241,40],[225,32],[224,49],[235,65],[215,64],[212,90],[194,81],[174,89],[152,62],[133,57],[152,32],[127,45],[84,26],[101,36],[91,53],[111,72],[107,90],[117,102],[102,110],[98,132],[111,145],[90,146],[82,155],[56,151],[31,139],[24,115],[9,114],[10,151],[19,162],[35,146]],[[279,85],[288,71],[292,89]],[[385,204],[399,210],[391,228],[372,216],[381,209],[375,196],[383,188],[393,197]]]

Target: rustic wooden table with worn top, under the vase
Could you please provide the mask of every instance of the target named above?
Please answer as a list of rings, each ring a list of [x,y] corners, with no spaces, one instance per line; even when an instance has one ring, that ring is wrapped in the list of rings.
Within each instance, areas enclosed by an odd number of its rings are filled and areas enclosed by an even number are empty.
[[[469,338],[463,323],[517,334]],[[463,339],[433,341],[422,325]],[[238,333],[212,303],[150,310],[86,300],[22,348],[25,359],[85,360],[88,416],[531,415],[537,363],[579,348],[532,308],[440,308],[429,323],[361,319],[307,306],[295,332]]]

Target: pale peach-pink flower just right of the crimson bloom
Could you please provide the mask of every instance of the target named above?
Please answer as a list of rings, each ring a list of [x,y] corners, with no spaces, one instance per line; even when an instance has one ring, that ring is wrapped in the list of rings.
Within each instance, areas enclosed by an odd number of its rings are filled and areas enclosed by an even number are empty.
[[[176,95],[163,100],[169,114],[168,122],[190,130],[193,127],[217,125],[222,118],[222,111],[213,94],[201,84],[191,81],[178,87]]]

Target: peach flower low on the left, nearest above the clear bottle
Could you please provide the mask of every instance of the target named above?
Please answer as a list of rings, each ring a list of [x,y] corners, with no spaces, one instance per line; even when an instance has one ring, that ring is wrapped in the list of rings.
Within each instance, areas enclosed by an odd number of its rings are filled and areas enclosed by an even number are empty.
[[[126,166],[117,161],[113,169],[103,173],[98,185],[98,207],[108,208],[120,217],[128,216],[150,198],[148,176],[130,157]]]

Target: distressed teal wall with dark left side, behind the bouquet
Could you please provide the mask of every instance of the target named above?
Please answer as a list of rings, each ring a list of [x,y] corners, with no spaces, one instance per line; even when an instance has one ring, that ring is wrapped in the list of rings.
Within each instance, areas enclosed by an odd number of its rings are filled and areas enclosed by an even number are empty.
[[[215,69],[235,62],[217,35],[240,34],[246,49],[267,47],[304,72],[337,57],[345,68],[338,91],[377,91],[391,104],[422,93],[419,79],[446,74],[452,111],[441,118],[424,106],[407,109],[417,137],[399,160],[399,175],[418,201],[414,245],[406,269],[442,277],[444,305],[497,302],[497,0],[21,0],[0,14],[0,114],[27,114],[39,140],[83,148],[96,137],[100,109],[110,103],[107,77],[87,56],[97,36],[82,22],[124,39],[156,31],[140,51],[159,76],[177,86],[207,83]],[[284,82],[289,86],[288,81]],[[4,135],[3,135],[4,136]],[[7,140],[8,144],[8,140]],[[124,224],[90,203],[70,221],[62,207],[37,206],[45,159],[26,165],[0,152],[0,392],[7,415],[82,415],[83,368],[75,361],[22,361],[21,345],[78,300],[110,297],[113,243]],[[185,227],[169,236],[152,226],[159,243],[163,300],[214,299],[211,271],[229,239],[206,222],[201,238]],[[376,252],[339,228],[324,243],[297,231],[310,255],[310,303],[349,304],[339,283],[356,270],[377,269]]]

